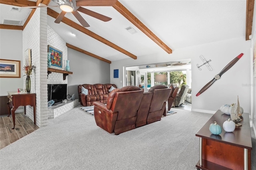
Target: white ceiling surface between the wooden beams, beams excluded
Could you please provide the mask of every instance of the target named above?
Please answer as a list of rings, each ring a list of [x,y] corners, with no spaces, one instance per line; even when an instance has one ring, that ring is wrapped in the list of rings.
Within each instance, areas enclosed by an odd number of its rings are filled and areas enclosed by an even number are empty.
[[[119,2],[173,51],[178,48],[245,37],[246,0],[119,0]],[[56,5],[56,3],[50,2],[49,5]],[[22,8],[20,12],[12,12],[10,8],[10,5],[0,4],[0,24],[3,24],[3,20],[6,19],[22,20],[21,25],[23,25],[31,9]],[[84,8],[112,18],[109,22],[103,22],[80,13],[90,25],[88,30],[138,58],[165,52],[113,7]],[[51,9],[60,13],[58,7]],[[80,24],[71,13],[67,13],[65,17]],[[48,25],[71,45],[110,61],[129,58],[120,51],[62,22],[54,23],[55,19],[51,16],[47,18]],[[125,30],[128,26],[132,26],[138,33],[130,34]]]

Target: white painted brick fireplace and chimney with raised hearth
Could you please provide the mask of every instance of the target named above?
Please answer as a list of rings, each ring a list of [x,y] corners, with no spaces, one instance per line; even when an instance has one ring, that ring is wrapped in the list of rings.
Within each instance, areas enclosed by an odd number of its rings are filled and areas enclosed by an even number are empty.
[[[52,72],[47,73],[47,50],[48,45],[62,51],[62,68],[53,67],[55,69],[64,70],[66,60],[68,59],[68,48],[66,42],[56,34],[56,32],[47,24],[47,8],[36,8],[32,18],[22,32],[23,51],[30,48],[32,53],[32,65],[36,66],[31,75],[31,92],[36,93],[36,125],[38,127],[47,126],[49,118],[55,118],[66,111],[78,105],[78,100],[70,101],[65,105],[61,105],[55,111],[56,115],[52,115],[54,110],[48,108],[47,84],[68,84],[68,76],[63,80],[63,73]],[[23,54],[23,64],[25,65],[25,54]],[[48,76],[47,76],[48,75]],[[25,87],[26,77],[23,78],[23,86]],[[67,92],[68,93],[68,92]],[[72,94],[70,94],[72,95]],[[26,115],[33,118],[33,108],[26,107]]]

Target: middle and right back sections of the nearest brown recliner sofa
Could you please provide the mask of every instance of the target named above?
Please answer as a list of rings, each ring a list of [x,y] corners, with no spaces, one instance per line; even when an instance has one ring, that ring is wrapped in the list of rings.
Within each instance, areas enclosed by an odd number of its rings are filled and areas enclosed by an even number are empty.
[[[138,109],[136,127],[160,121],[171,93],[166,85],[155,85],[145,92]]]

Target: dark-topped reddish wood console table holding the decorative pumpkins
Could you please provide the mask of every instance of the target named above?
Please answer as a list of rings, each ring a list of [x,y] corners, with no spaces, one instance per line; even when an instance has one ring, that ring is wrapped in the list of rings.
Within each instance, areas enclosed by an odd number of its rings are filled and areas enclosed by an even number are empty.
[[[243,113],[233,132],[226,132],[222,125],[230,115],[218,110],[209,121],[196,133],[200,137],[200,158],[196,164],[202,170],[250,170],[252,138],[248,113]],[[209,126],[217,122],[222,127],[219,135],[211,134]]]

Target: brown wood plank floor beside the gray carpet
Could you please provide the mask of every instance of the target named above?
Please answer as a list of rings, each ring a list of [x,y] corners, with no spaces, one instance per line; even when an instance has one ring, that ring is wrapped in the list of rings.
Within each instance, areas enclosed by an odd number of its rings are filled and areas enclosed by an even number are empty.
[[[15,113],[15,129],[12,129],[12,117],[0,117],[0,149],[34,132],[39,127],[24,113]]]

